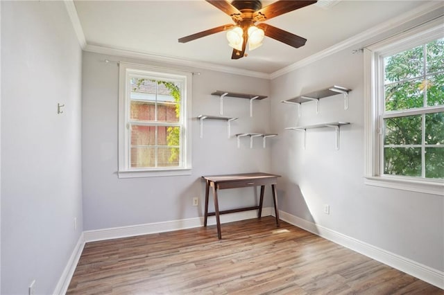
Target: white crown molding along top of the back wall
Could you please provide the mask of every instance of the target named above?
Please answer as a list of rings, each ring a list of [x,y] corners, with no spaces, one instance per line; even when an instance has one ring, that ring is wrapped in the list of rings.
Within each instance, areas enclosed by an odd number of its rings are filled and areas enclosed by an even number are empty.
[[[138,60],[149,60],[151,62],[162,62],[164,64],[173,64],[176,66],[189,66],[196,69],[205,69],[210,71],[219,71],[223,73],[231,73],[235,75],[246,75],[253,78],[262,78],[270,80],[269,73],[262,73],[258,71],[249,71],[244,69],[237,69],[232,66],[221,66],[220,64],[211,64],[207,62],[198,62],[195,60],[182,60],[178,57],[168,57],[163,55],[155,55],[152,53],[144,53],[140,51],[131,51],[125,48],[107,47],[102,45],[87,44],[84,51],[92,53],[101,53],[109,55],[118,55],[121,57],[137,58]]]

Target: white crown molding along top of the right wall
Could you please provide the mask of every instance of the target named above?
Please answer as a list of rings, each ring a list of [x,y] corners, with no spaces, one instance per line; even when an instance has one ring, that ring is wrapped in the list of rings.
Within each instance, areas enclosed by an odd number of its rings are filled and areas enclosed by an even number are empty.
[[[416,9],[410,10],[409,12],[405,12],[404,14],[399,15],[398,17],[395,17],[388,21],[384,21],[382,24],[379,24],[378,26],[375,26],[368,30],[365,30],[364,32],[358,35],[345,39],[343,42],[339,42],[338,44],[330,46],[329,48],[326,48],[323,51],[319,51],[314,55],[310,55],[309,57],[303,60],[295,62],[294,64],[290,64],[289,66],[286,66],[278,71],[275,71],[270,74],[270,78],[271,80],[273,80],[281,75],[290,73],[291,71],[295,71],[296,69],[300,69],[302,68],[302,66],[307,66],[308,64],[317,62],[318,60],[322,60],[324,57],[332,55],[345,48],[349,48],[361,42],[366,42],[368,39],[372,37],[376,37],[377,35],[386,33],[388,32],[388,30],[391,30],[398,26],[402,26],[403,24],[406,24],[408,21],[417,19],[418,17],[422,17],[423,15],[427,15],[427,13],[434,12],[435,10],[438,10],[440,8],[444,8],[444,2],[431,1],[429,3],[426,3]]]

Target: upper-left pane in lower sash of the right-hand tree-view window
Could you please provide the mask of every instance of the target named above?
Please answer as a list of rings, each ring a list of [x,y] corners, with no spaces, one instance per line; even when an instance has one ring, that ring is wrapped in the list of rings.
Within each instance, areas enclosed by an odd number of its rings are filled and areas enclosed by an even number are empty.
[[[384,119],[384,145],[420,145],[421,116]]]

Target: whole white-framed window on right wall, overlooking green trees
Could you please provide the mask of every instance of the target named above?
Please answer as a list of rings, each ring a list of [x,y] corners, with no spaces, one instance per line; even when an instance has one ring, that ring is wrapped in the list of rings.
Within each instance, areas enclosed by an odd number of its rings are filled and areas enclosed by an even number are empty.
[[[444,34],[366,48],[366,183],[444,195]]]

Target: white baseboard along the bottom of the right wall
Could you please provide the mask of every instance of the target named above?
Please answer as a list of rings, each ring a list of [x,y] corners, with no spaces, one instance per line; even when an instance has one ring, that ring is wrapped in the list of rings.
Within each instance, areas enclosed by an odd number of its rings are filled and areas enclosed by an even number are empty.
[[[335,242],[336,244],[340,244],[343,247],[356,251],[357,253],[361,253],[400,271],[404,271],[406,274],[419,278],[420,280],[424,280],[425,282],[438,288],[444,289],[443,271],[433,269],[432,267],[427,267],[427,265],[422,265],[421,263],[410,260],[409,258],[399,256],[398,254],[391,253],[366,242],[351,238],[348,235],[343,235],[342,233],[338,233],[332,229],[327,229],[324,226],[303,220],[302,218],[289,213],[280,211],[279,214],[280,219],[288,222],[289,224],[298,226],[301,229],[309,231],[310,233],[319,235],[322,238]]]

